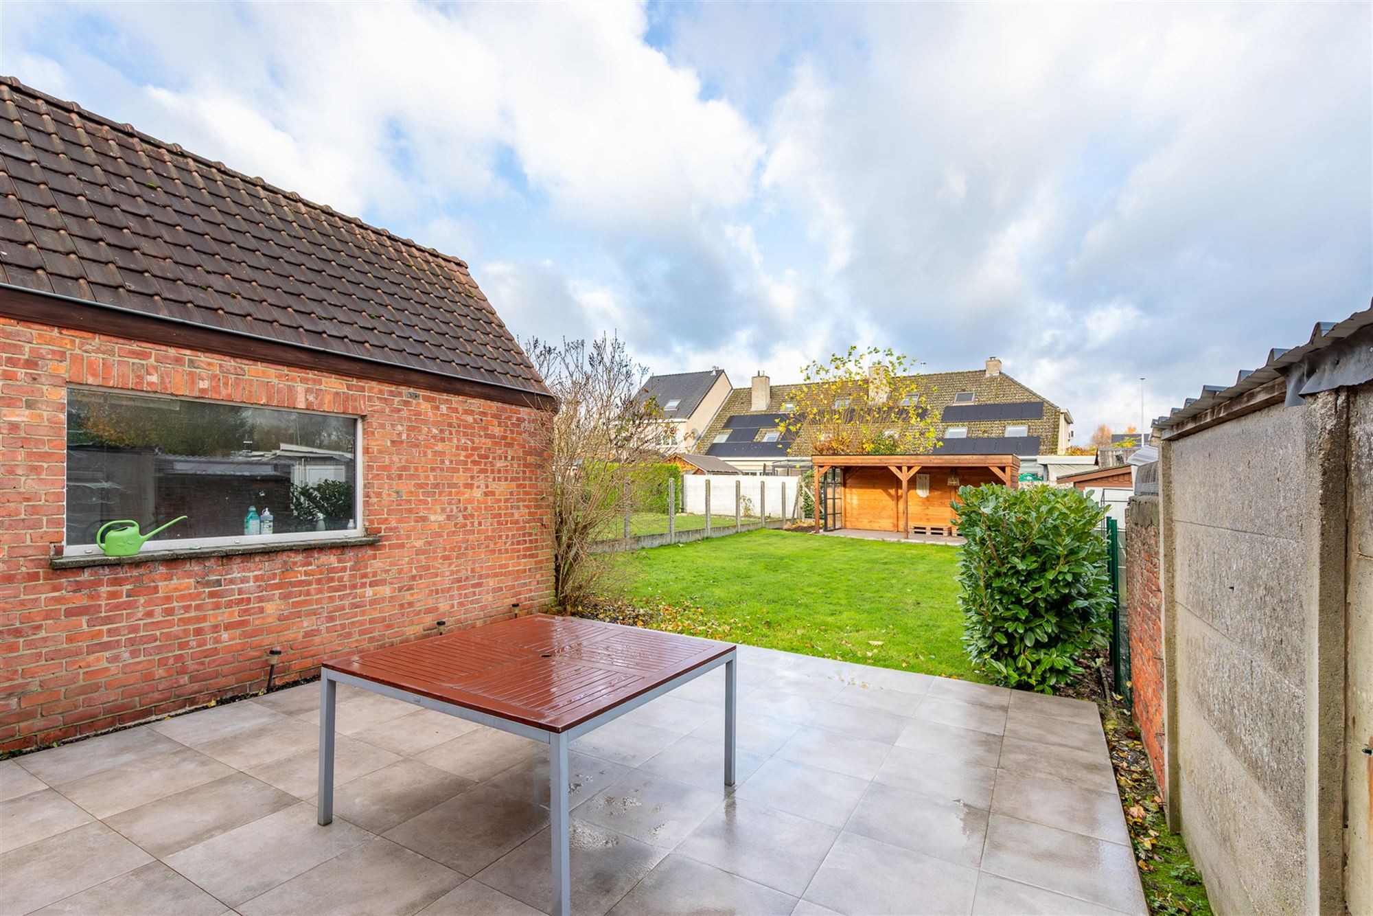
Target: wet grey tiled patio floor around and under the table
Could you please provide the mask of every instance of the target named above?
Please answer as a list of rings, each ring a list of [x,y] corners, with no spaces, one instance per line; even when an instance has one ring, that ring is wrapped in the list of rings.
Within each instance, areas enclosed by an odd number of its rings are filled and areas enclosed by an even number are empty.
[[[740,647],[573,744],[578,913],[1145,913],[1096,707]],[[319,688],[0,762],[0,913],[530,915],[546,747]]]

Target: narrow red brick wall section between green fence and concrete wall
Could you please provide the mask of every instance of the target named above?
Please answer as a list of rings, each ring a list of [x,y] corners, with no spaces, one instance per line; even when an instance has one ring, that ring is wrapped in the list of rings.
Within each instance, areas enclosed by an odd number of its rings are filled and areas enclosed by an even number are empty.
[[[1159,788],[1163,779],[1163,593],[1159,591],[1159,497],[1134,496],[1126,507],[1126,599],[1134,721]]]

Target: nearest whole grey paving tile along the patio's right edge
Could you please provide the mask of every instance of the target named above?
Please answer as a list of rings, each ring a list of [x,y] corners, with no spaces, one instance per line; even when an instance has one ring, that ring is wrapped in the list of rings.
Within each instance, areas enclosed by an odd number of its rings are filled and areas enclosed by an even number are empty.
[[[1145,913],[1129,846],[993,814],[982,869],[1078,900]]]

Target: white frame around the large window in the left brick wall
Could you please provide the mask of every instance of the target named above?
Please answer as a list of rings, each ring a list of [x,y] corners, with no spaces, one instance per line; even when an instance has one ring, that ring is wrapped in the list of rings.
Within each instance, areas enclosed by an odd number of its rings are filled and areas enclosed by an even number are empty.
[[[284,413],[316,413],[319,416],[334,416],[342,419],[353,420],[353,466],[354,466],[354,483],[353,483],[353,527],[342,529],[338,531],[292,531],[290,534],[233,534],[229,537],[187,537],[180,540],[162,540],[155,538],[151,541],[144,541],[143,548],[135,556],[150,556],[154,553],[180,553],[183,551],[206,551],[211,552],[216,549],[222,549],[228,547],[279,547],[279,545],[292,545],[292,547],[328,547],[331,541],[346,541],[356,537],[362,537],[367,534],[367,520],[362,515],[362,486],[364,486],[364,464],[362,464],[362,416],[356,413],[331,413],[330,411],[308,411],[297,409],[291,407],[269,407],[264,404],[244,404],[243,401],[222,401],[217,398],[192,398],[192,397],[177,397],[170,394],[155,394],[148,391],[130,391],[128,389],[107,389],[93,385],[69,385],[67,390],[82,390],[82,391],[100,391],[102,394],[119,394],[136,398],[159,398],[163,401],[196,401],[200,404],[225,404],[228,407],[247,407],[262,411],[281,411]],[[66,422],[66,413],[63,412],[63,422]],[[62,493],[66,497],[67,478],[66,478],[66,450],[62,453]],[[157,527],[152,519],[148,522],[141,522],[143,527]],[[99,544],[67,544],[67,518],[66,518],[66,504],[63,503],[62,512],[62,555],[63,556],[104,556],[104,551],[100,549]],[[132,558],[125,558],[132,559]]]

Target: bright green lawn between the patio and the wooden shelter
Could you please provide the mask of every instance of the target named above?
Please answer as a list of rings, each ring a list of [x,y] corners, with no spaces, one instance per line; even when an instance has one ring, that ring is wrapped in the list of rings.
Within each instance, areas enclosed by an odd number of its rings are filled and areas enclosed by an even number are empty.
[[[682,632],[982,680],[962,654],[954,547],[759,530],[618,562],[623,597],[700,623]]]

